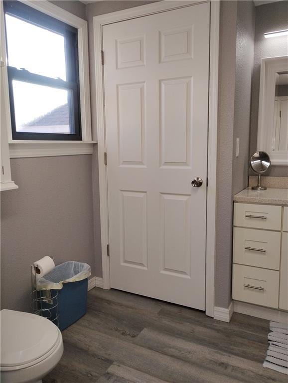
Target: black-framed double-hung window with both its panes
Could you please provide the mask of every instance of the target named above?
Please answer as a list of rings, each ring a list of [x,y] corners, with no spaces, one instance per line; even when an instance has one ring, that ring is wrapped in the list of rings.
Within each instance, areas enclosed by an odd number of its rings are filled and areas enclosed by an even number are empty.
[[[81,140],[77,29],[3,4],[13,140]]]

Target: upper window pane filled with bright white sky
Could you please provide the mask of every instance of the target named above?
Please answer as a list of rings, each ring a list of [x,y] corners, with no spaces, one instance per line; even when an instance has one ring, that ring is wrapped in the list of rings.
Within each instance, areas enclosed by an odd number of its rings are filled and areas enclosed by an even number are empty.
[[[8,64],[66,80],[64,36],[5,14]]]

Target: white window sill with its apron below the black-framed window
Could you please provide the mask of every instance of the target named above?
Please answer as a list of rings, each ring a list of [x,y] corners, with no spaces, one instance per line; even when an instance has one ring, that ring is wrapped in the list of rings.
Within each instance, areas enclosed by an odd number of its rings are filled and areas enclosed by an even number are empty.
[[[9,141],[10,158],[92,154],[97,141]]]

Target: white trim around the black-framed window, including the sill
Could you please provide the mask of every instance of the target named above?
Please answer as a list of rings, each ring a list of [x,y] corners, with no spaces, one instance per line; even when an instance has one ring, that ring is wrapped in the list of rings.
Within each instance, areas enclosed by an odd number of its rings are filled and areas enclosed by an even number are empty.
[[[80,154],[92,154],[93,144],[91,130],[91,109],[90,109],[90,84],[89,84],[89,56],[88,56],[88,24],[86,20],[75,16],[74,14],[52,4],[49,1],[33,1],[19,0],[34,9],[39,10],[49,16],[52,16],[66,24],[72,25],[78,29],[78,59],[79,59],[79,88],[80,88],[80,111],[81,111],[81,131],[82,141],[30,141],[30,140],[13,140],[11,131],[11,119],[9,108],[8,94],[8,75],[5,63],[6,51],[5,44],[1,55],[1,61],[4,68],[4,86],[3,97],[5,99],[7,116],[6,128],[9,143],[10,158],[22,157],[47,157],[47,156],[69,156]],[[2,4],[0,4],[0,12],[3,12]],[[2,26],[1,35],[4,37]]]

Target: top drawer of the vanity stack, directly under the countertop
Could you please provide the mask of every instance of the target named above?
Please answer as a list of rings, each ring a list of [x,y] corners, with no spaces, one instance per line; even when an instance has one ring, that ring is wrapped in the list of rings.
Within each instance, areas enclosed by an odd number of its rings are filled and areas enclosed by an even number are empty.
[[[234,225],[281,230],[281,206],[234,203]]]

